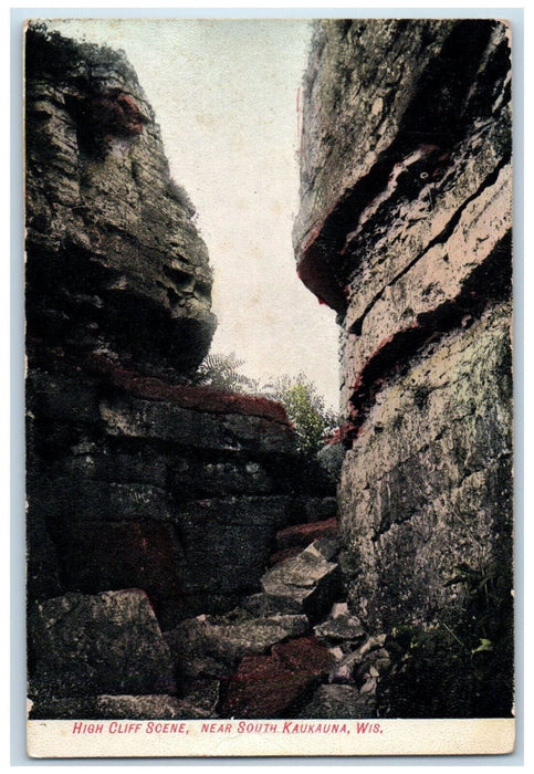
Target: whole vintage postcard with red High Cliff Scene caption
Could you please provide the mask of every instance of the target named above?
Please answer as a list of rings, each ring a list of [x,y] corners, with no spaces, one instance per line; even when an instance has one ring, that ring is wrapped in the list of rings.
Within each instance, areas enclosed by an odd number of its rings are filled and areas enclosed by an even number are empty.
[[[513,752],[511,48],[27,22],[31,756]]]

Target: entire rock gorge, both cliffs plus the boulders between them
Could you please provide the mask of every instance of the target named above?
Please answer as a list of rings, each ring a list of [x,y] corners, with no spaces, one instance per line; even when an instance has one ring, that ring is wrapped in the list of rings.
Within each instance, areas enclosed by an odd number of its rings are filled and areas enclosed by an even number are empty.
[[[31,717],[509,714],[506,25],[316,24],[339,519],[279,404],[191,384],[211,270],[124,56],[31,25],[25,76]]]

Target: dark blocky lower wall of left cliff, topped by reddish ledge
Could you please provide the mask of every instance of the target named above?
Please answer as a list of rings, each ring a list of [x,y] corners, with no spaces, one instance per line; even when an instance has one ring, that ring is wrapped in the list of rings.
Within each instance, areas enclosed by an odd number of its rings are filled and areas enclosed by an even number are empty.
[[[66,376],[63,399],[62,373],[28,377],[32,590],[50,595],[49,565],[55,595],[135,586],[168,629],[259,590],[276,531],[304,511],[296,448],[278,404],[125,374]]]

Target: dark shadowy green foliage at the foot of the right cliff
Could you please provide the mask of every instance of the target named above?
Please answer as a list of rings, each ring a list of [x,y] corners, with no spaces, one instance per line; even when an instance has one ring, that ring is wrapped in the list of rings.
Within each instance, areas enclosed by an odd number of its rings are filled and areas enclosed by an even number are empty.
[[[513,600],[510,573],[454,567],[456,607],[428,628],[395,630],[395,667],[379,688],[389,718],[506,718],[513,702]],[[430,677],[429,677],[430,676]]]

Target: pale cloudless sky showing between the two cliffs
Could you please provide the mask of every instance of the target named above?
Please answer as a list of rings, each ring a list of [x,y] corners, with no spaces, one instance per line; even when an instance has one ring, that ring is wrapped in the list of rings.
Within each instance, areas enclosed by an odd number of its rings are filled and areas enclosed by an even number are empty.
[[[197,209],[214,271],[212,352],[261,381],[304,372],[338,406],[335,313],[299,281],[297,90],[308,20],[86,19],[49,24],[123,49]]]

